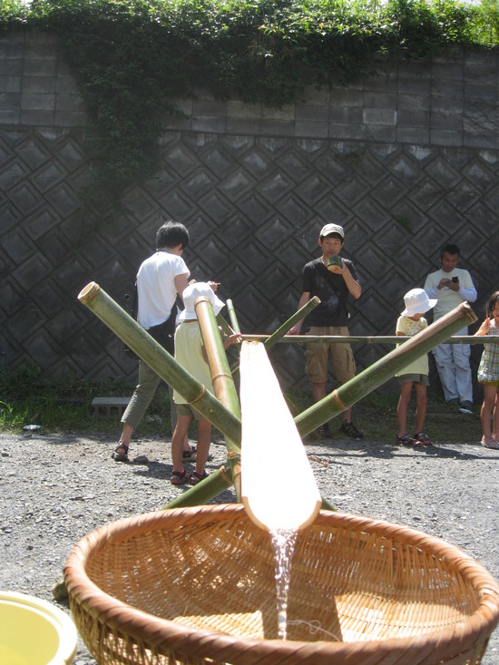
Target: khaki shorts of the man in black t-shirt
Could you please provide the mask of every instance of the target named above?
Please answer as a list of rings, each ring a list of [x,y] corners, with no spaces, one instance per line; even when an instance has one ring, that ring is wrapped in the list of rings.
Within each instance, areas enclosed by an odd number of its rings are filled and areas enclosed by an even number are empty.
[[[312,326],[308,335],[349,335],[347,326]],[[311,342],[305,351],[305,371],[312,383],[326,383],[328,380],[328,351],[331,352],[335,377],[339,383],[346,383],[355,377],[355,359],[352,347],[346,344]]]

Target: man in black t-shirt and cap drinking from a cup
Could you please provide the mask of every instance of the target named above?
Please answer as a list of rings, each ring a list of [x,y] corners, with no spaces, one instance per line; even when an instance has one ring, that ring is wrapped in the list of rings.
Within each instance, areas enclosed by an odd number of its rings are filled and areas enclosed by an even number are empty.
[[[299,335],[305,321],[308,335],[347,336],[349,334],[347,324],[350,315],[347,299],[349,296],[360,298],[362,288],[352,261],[339,256],[344,242],[345,231],[338,224],[326,224],[320,230],[318,244],[322,254],[318,259],[307,263],[303,269],[303,288],[298,309],[304,307],[314,296],[320,298],[320,304],[306,318],[290,328],[289,335]],[[355,359],[349,344],[323,342],[308,344],[305,352],[306,372],[312,383],[314,402],[319,402],[326,396],[329,353],[339,383],[346,383],[355,377]],[[363,437],[362,432],[352,422],[351,406],[343,412],[340,430],[354,439]],[[328,423],[320,425],[318,434],[330,435]]]

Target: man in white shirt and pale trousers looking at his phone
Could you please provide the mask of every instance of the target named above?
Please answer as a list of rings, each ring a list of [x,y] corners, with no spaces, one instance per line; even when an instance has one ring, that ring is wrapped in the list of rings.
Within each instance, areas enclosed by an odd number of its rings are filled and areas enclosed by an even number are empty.
[[[436,298],[434,320],[442,318],[465,300],[475,302],[476,288],[470,273],[457,268],[459,248],[446,243],[440,249],[442,268],[428,275],[425,290],[428,298]],[[457,335],[467,335],[463,328]],[[445,402],[459,405],[463,414],[471,414],[473,406],[473,384],[470,367],[469,344],[440,344],[433,349],[436,369],[444,389]]]

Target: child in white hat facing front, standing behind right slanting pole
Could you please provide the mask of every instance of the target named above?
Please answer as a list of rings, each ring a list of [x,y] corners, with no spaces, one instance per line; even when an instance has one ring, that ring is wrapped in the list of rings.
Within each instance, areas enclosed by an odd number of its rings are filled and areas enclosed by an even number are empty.
[[[436,299],[430,300],[424,288],[412,288],[404,296],[406,308],[396,321],[396,335],[413,337],[428,324],[424,314],[436,305]],[[396,443],[400,445],[432,445],[431,439],[423,432],[426,416],[426,386],[428,380],[428,355],[424,354],[404,367],[404,371],[396,374],[400,384],[400,398],[396,407],[398,433]],[[416,434],[407,434],[407,407],[411,399],[412,387],[416,388]]]

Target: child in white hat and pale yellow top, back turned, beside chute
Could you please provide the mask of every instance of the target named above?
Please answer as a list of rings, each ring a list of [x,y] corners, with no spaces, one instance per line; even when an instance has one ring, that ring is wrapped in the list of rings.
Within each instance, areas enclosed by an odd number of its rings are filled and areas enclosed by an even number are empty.
[[[208,357],[202,342],[201,328],[194,308],[197,298],[206,296],[210,298],[215,315],[224,307],[224,303],[217,298],[213,288],[218,284],[214,282],[193,282],[183,291],[183,303],[185,309],[181,311],[178,321],[179,326],[175,332],[175,360],[186,369],[192,377],[196,378],[210,392],[213,392],[211,383],[210,366]],[[240,334],[227,337],[224,348],[230,344],[240,342]],[[177,405],[177,425],[171,436],[171,484],[198,484],[208,477],[205,469],[208,455],[210,454],[211,423],[205,416],[191,406],[178,390],[173,391],[173,399]],[[183,466],[182,456],[183,441],[187,437],[192,418],[198,423],[198,445],[196,454],[196,468],[190,473]]]

